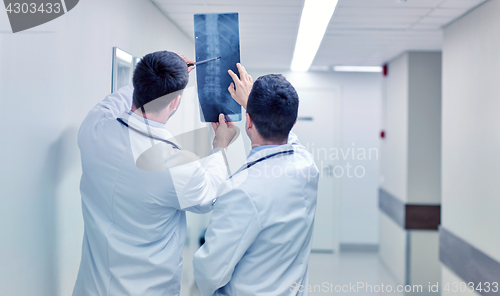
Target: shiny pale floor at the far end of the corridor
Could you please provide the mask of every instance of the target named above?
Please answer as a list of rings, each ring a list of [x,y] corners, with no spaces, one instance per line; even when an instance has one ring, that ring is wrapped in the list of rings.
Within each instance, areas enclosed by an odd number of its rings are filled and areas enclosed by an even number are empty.
[[[312,291],[316,288],[309,295],[403,295],[396,292],[397,284],[376,252],[312,253],[309,285]],[[391,293],[387,292],[388,285],[393,289]]]

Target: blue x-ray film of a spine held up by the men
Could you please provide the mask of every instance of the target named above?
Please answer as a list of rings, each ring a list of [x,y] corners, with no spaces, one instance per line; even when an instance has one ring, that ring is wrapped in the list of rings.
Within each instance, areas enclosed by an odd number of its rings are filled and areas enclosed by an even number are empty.
[[[196,61],[217,58],[196,66],[201,121],[217,122],[220,113],[226,120],[240,121],[241,106],[227,90],[233,81],[227,73],[239,76],[240,34],[237,13],[194,15]]]

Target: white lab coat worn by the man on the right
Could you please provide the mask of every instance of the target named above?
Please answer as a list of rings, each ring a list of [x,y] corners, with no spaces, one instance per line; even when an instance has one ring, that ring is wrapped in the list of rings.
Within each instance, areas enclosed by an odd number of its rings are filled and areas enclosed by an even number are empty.
[[[291,133],[288,144],[260,150],[248,163],[279,151],[222,187],[205,244],[194,257],[203,296],[305,295],[319,173]]]

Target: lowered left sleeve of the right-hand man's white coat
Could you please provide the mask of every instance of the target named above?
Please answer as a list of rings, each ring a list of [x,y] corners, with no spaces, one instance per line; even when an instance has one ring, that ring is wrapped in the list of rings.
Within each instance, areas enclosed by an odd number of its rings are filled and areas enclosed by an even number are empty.
[[[205,244],[193,259],[194,277],[202,296],[211,296],[230,280],[236,264],[261,231],[253,201],[241,188],[217,199]]]

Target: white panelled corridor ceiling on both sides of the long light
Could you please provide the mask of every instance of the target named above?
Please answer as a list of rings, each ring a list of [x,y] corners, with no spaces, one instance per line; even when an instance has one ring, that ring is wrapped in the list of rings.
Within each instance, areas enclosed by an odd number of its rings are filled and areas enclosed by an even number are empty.
[[[190,38],[193,14],[238,12],[241,62],[288,69],[304,0],[151,0]],[[408,50],[440,50],[442,27],[487,0],[340,0],[311,70],[382,65]]]

